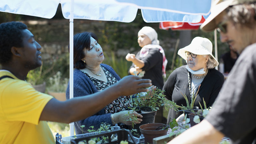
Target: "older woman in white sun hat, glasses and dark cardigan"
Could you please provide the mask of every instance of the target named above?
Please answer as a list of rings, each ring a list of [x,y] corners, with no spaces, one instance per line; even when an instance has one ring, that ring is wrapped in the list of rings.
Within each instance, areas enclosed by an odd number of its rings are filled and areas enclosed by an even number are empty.
[[[194,106],[199,107],[199,102],[203,104],[203,98],[207,108],[212,106],[224,82],[224,76],[214,69],[219,62],[212,55],[212,42],[195,37],[191,44],[178,51],[178,55],[186,60],[187,65],[175,69],[168,77],[163,87],[166,98],[177,105],[187,106],[181,93],[187,96],[190,103],[201,84]],[[175,118],[174,111],[170,110],[169,116]]]

